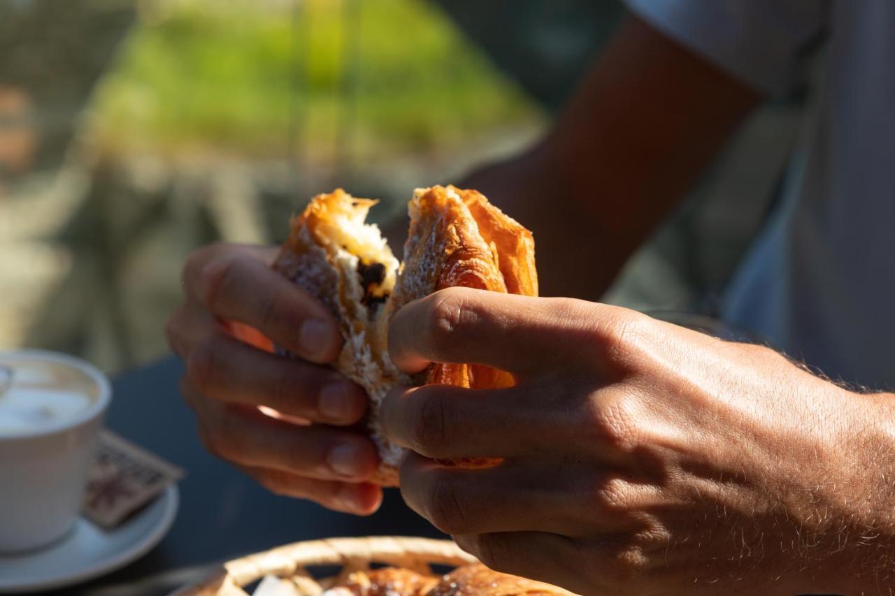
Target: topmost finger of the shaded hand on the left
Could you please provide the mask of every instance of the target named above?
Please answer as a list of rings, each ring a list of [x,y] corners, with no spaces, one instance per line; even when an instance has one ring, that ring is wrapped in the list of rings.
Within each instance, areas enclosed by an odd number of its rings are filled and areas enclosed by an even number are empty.
[[[342,345],[327,308],[260,260],[227,254],[187,276],[186,286],[217,317],[256,328],[311,362],[331,362]]]

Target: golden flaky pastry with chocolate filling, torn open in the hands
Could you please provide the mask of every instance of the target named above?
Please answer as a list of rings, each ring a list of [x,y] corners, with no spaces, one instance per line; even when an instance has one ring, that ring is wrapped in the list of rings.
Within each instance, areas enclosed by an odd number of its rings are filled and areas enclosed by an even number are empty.
[[[375,200],[337,189],[293,217],[274,268],[323,302],[340,321],[345,344],[333,366],[370,396],[368,425],[381,464],[373,481],[397,485],[402,450],[379,432],[377,409],[399,382],[508,387],[512,376],[476,364],[433,363],[413,379],[388,358],[388,322],[402,306],[451,286],[538,294],[532,233],[480,193],[453,186],[417,189],[400,265],[366,217]],[[487,464],[467,460],[460,465]]]

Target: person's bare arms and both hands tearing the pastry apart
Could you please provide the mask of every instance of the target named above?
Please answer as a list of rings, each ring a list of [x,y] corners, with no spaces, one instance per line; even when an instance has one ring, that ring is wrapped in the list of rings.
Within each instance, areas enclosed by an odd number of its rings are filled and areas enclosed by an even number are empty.
[[[542,294],[593,299],[759,100],[630,20],[541,143],[460,185],[533,229]],[[274,254],[192,254],[168,324],[183,395],[209,450],[270,490],[369,514],[381,493],[366,482],[375,449],[354,429],[365,397],[326,366],[336,322],[269,269]],[[299,358],[237,340],[233,321]],[[568,298],[447,290],[400,311],[389,341],[407,371],[482,362],[519,380],[402,388],[383,411],[412,450],[408,505],[490,566],[598,595],[891,593],[892,396]],[[430,459],[460,456],[505,460]]]

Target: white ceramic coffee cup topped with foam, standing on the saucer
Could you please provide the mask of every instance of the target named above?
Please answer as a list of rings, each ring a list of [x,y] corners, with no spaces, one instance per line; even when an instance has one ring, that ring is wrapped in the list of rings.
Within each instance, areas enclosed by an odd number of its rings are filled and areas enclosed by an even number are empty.
[[[21,412],[19,418],[10,416],[10,401],[5,411],[0,410],[0,552],[38,549],[62,538],[72,527],[112,396],[106,375],[88,362],[61,353],[18,350],[0,352],[4,373],[13,370],[12,379],[4,374],[9,382],[0,400],[16,398],[17,404],[27,405],[26,397],[36,394],[22,378],[39,377],[44,364],[52,374],[49,388],[38,385],[38,396],[50,404],[36,411],[44,414],[35,414],[32,423]],[[21,371],[18,384],[17,368]],[[55,387],[63,389],[54,395]],[[13,396],[13,392],[18,393]],[[66,396],[80,394],[88,396],[86,402],[74,398],[68,404],[75,407],[63,407]],[[62,406],[55,407],[56,402]]]

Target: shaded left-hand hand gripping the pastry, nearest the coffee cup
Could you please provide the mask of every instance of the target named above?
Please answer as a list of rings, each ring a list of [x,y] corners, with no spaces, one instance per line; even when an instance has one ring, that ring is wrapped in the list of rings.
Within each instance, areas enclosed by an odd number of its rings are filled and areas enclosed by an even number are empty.
[[[326,366],[342,345],[337,322],[270,268],[273,247],[212,244],[183,268],[185,299],[168,319],[168,343],[186,363],[181,389],[209,451],[277,494],[368,515],[382,491],[369,483],[376,447],[359,430],[361,387]],[[235,323],[298,358],[244,343]],[[258,406],[282,413],[281,419]],[[289,418],[311,424],[296,424]]]

